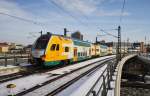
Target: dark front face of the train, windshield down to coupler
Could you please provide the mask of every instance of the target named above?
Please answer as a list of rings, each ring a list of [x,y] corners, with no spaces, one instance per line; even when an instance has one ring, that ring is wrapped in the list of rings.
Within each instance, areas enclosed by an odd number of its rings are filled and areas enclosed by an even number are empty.
[[[51,34],[41,35],[32,47],[32,61],[35,65],[43,65],[45,62],[45,51]]]

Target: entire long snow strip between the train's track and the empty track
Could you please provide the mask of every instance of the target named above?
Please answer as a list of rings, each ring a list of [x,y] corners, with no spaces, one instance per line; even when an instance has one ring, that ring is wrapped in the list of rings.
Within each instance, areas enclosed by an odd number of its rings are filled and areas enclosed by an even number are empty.
[[[62,74],[62,73],[64,74],[65,72],[70,72],[71,70],[77,69],[81,66],[85,66],[85,65],[90,64],[92,62],[96,62],[96,61],[106,59],[106,58],[110,58],[110,57],[114,57],[114,55],[100,57],[100,58],[88,60],[88,61],[85,61],[85,62],[81,62],[81,63],[78,63],[78,64],[74,64],[74,65],[71,65],[71,66],[68,66],[68,67],[64,67],[64,68],[61,68],[61,69],[57,69],[57,70],[54,70],[54,71],[46,72],[46,73],[43,73],[43,74],[34,74],[34,75],[30,75],[28,77],[24,77],[24,78],[20,78],[20,79],[16,79],[16,80],[13,80],[13,81],[8,81],[8,82],[5,82],[5,83],[2,83],[2,84],[0,84],[0,89],[1,89],[0,96],[7,96],[8,95],[8,89],[6,88],[6,86],[10,83],[16,85],[16,88],[14,88],[14,90],[13,90],[13,92],[16,94],[16,93],[22,92],[26,89],[32,88],[32,87],[34,87],[38,84],[41,84],[45,81],[48,81],[52,78],[55,78],[56,76],[52,76],[52,74]],[[8,67],[11,68],[13,66],[8,66]]]

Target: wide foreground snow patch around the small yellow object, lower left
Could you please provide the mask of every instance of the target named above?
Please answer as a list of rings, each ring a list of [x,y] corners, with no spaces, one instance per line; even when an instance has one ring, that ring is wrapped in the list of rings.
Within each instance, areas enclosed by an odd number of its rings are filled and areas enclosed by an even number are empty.
[[[25,89],[29,89],[42,82],[48,81],[51,78],[50,75],[51,74],[34,74],[28,77],[2,83],[0,84],[0,89],[1,89],[0,96],[8,95],[8,89],[6,88],[8,84],[15,84],[16,88],[14,88],[13,92],[19,93],[21,91],[24,91]]]

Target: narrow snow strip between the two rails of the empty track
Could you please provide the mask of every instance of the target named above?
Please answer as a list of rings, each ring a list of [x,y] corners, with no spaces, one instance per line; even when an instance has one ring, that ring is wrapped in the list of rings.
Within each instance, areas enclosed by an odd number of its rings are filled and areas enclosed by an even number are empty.
[[[98,63],[93,64],[91,66],[88,66],[87,68],[78,70],[77,72],[73,72],[73,73],[71,73],[71,74],[69,74],[69,75],[67,75],[67,76],[65,76],[63,78],[60,78],[59,80],[56,80],[56,81],[54,81],[52,83],[49,83],[49,84],[47,84],[45,86],[42,86],[42,87],[38,88],[38,89],[36,89],[36,90],[34,90],[32,92],[29,92],[29,93],[25,94],[24,96],[46,96],[48,93],[52,92],[53,90],[56,90],[60,86],[66,84],[70,80],[73,80],[74,78],[78,77],[80,74],[85,73],[87,70],[93,68],[94,66],[97,66],[97,65],[101,64],[102,62],[104,62],[104,61],[101,61],[101,62],[98,62]],[[88,77],[90,75],[92,76],[92,73],[89,73]],[[70,95],[63,95],[63,96],[70,96]]]

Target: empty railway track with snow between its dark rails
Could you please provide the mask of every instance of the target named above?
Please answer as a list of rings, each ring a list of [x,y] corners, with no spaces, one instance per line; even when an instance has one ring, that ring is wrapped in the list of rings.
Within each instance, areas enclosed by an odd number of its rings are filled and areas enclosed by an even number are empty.
[[[93,72],[93,70],[102,67],[108,60],[112,60],[112,58],[96,61],[79,69],[72,70],[70,73],[58,75],[56,78],[52,78],[44,83],[20,92],[16,94],[16,96],[53,96],[83,76]]]

